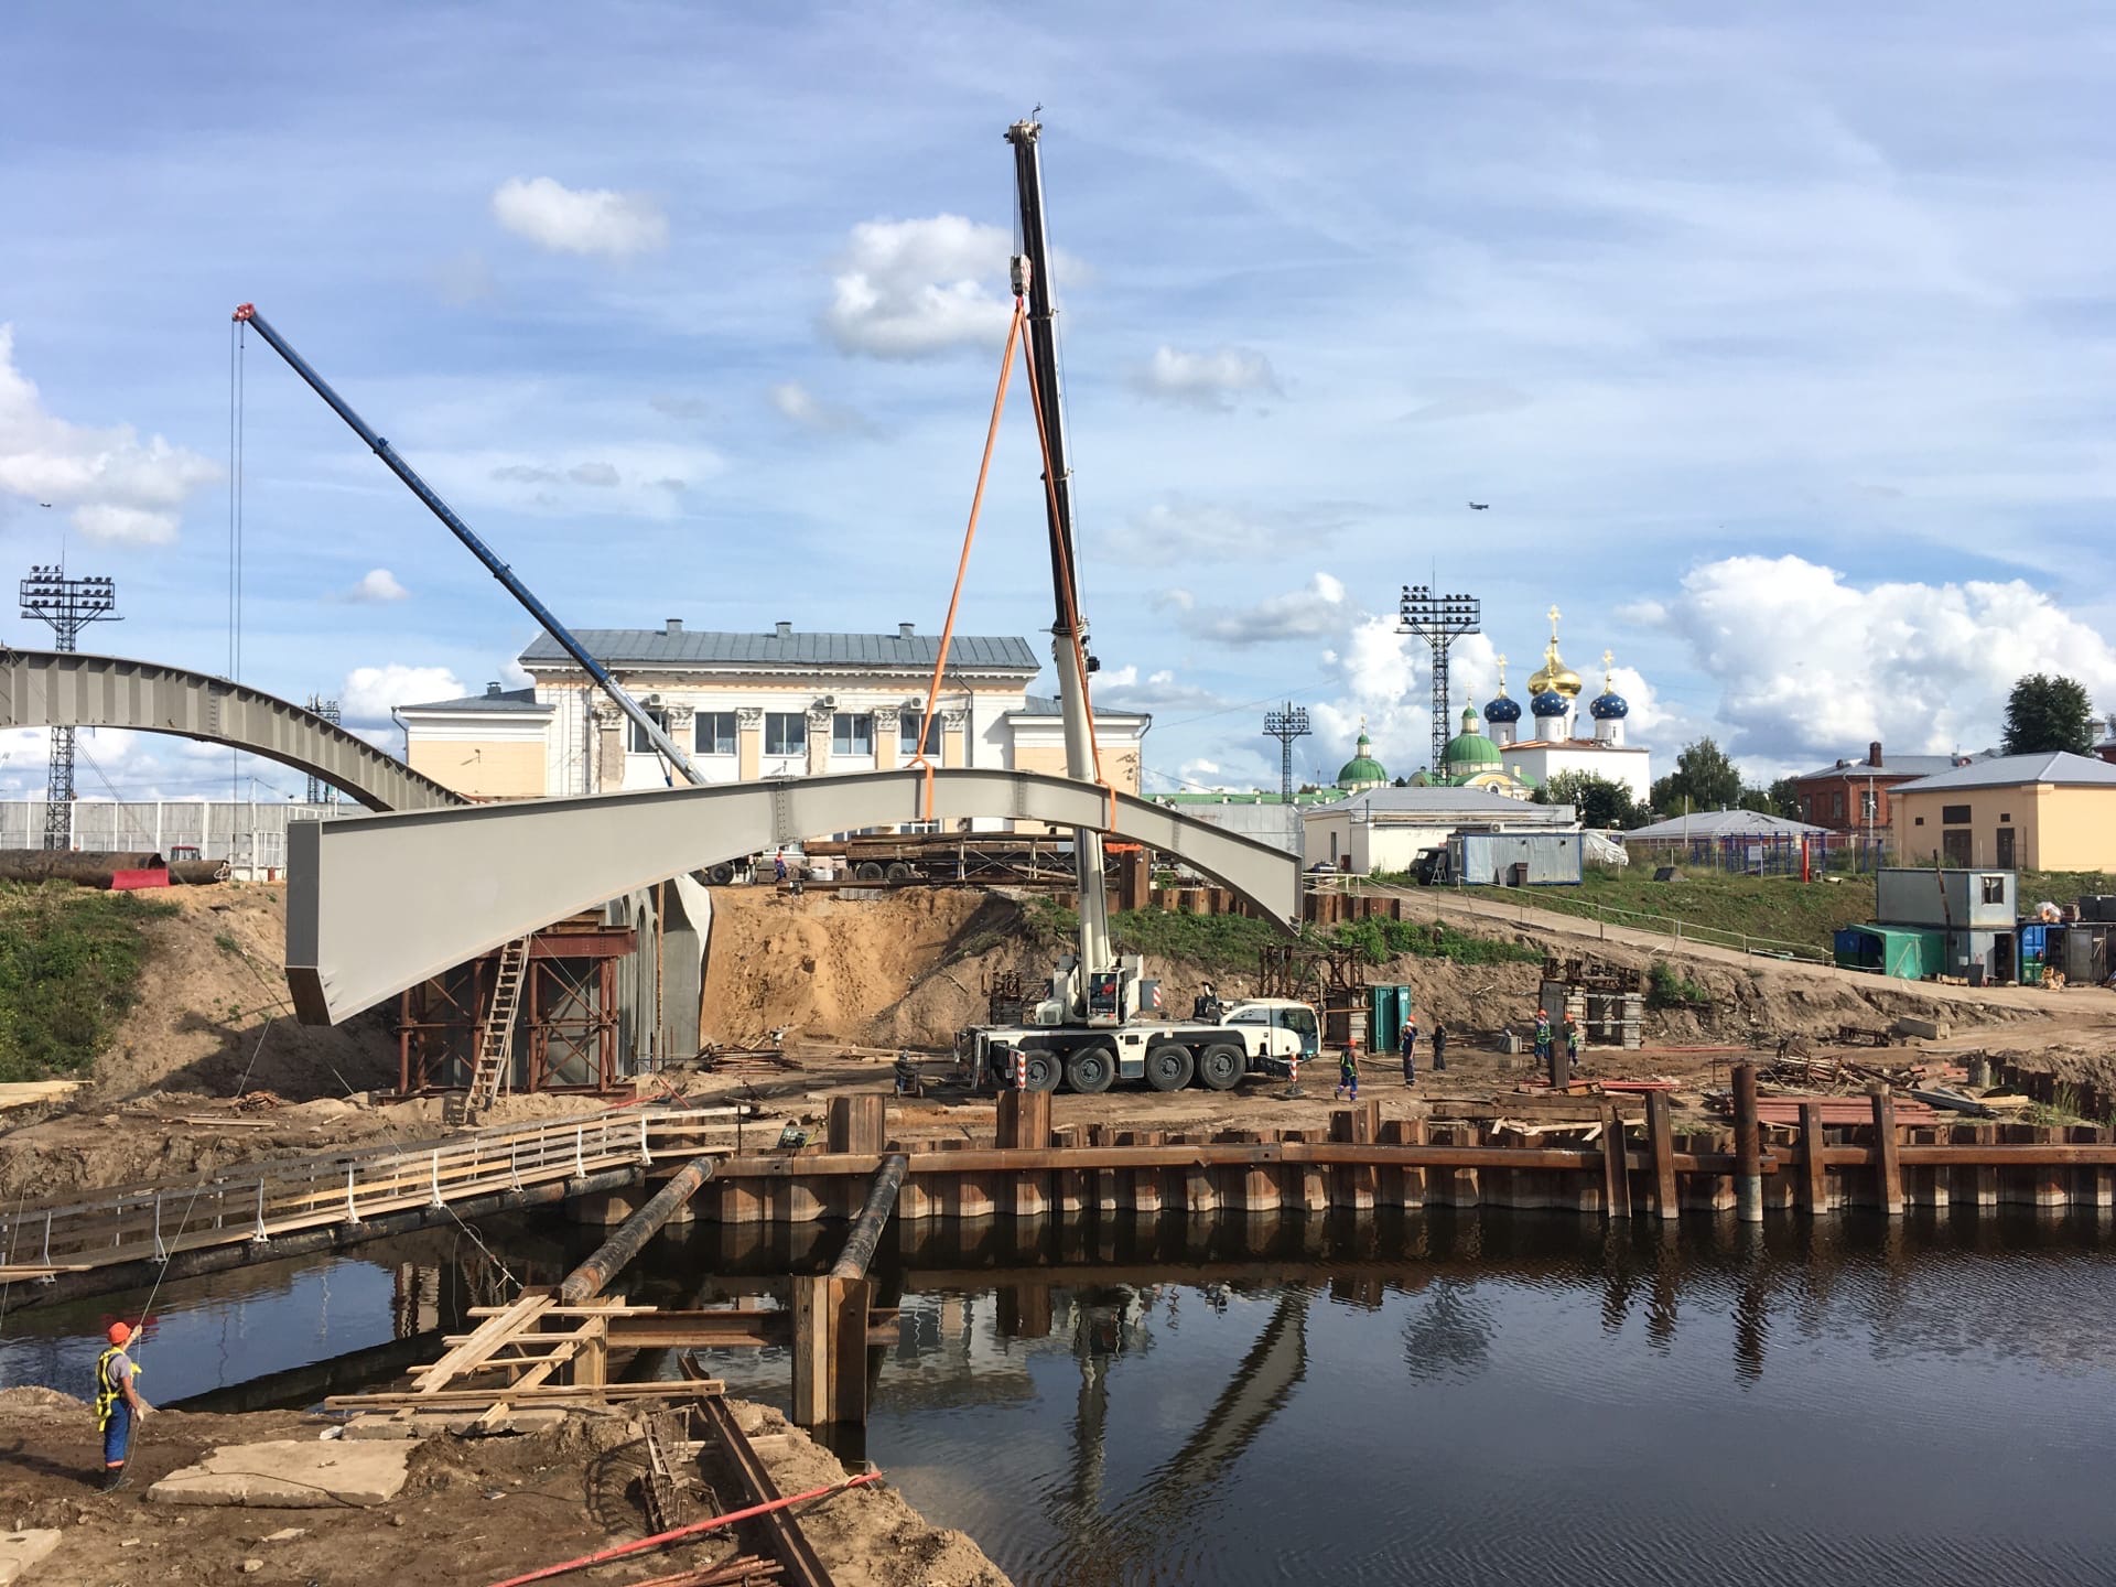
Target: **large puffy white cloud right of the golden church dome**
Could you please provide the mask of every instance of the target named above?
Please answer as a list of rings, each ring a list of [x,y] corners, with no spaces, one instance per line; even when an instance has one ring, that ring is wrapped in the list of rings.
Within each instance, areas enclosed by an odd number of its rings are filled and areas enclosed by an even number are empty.
[[[1748,755],[1985,749],[2014,679],[2038,671],[2116,698],[2110,641],[2023,580],[1860,588],[1801,557],[1727,557],[1684,576],[1665,626],[1718,683],[1727,749]]]

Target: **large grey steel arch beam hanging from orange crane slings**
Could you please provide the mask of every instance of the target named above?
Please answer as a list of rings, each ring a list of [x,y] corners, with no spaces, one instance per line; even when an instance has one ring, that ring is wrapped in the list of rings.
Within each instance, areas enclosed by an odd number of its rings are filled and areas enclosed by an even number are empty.
[[[920,787],[916,770],[849,772],[294,821],[286,899],[294,1009],[307,1024],[336,1024],[669,876],[783,842],[920,821]],[[1128,794],[1109,800],[1069,777],[942,770],[931,817],[1090,827],[1179,857],[1287,929],[1301,912],[1301,868],[1287,851]]]

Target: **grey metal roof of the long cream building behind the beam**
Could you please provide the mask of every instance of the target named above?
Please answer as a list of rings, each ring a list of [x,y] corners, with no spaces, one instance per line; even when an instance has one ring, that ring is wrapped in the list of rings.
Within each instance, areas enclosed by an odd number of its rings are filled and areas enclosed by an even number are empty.
[[[715,633],[711,628],[576,628],[576,639],[605,667],[878,667],[933,671],[937,635],[918,633]],[[523,667],[571,667],[557,639],[537,635]],[[969,673],[1037,673],[1041,662],[1024,639],[956,635],[948,664]]]

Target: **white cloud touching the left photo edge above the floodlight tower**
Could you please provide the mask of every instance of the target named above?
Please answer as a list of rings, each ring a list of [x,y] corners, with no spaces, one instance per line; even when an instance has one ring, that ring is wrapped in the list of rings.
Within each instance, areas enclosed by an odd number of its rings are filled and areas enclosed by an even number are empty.
[[[0,491],[66,510],[72,527],[110,546],[167,546],[184,501],[220,478],[195,451],[131,425],[89,427],[44,411],[15,368],[15,328],[0,324]]]

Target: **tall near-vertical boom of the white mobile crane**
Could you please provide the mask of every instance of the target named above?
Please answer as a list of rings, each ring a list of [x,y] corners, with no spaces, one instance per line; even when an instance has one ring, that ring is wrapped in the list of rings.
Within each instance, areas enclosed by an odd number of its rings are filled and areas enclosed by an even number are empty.
[[[1016,121],[1007,127],[1014,144],[1014,193],[1020,203],[1022,252],[1028,269],[1028,360],[1037,377],[1037,421],[1047,451],[1047,489],[1043,493],[1050,521],[1052,597],[1058,616],[1052,622],[1052,660],[1058,664],[1058,709],[1064,719],[1066,774],[1083,783],[1096,781],[1094,722],[1088,713],[1088,622],[1079,614],[1079,559],[1073,554],[1073,470],[1066,466],[1064,400],[1058,389],[1058,328],[1052,305],[1050,239],[1043,231],[1043,161],[1039,154],[1041,123]],[[1109,944],[1109,891],[1102,880],[1102,834],[1092,827],[1073,829],[1073,880],[1079,895],[1079,965],[1075,1001],[1086,1009],[1090,978],[1107,971],[1115,959]]]

